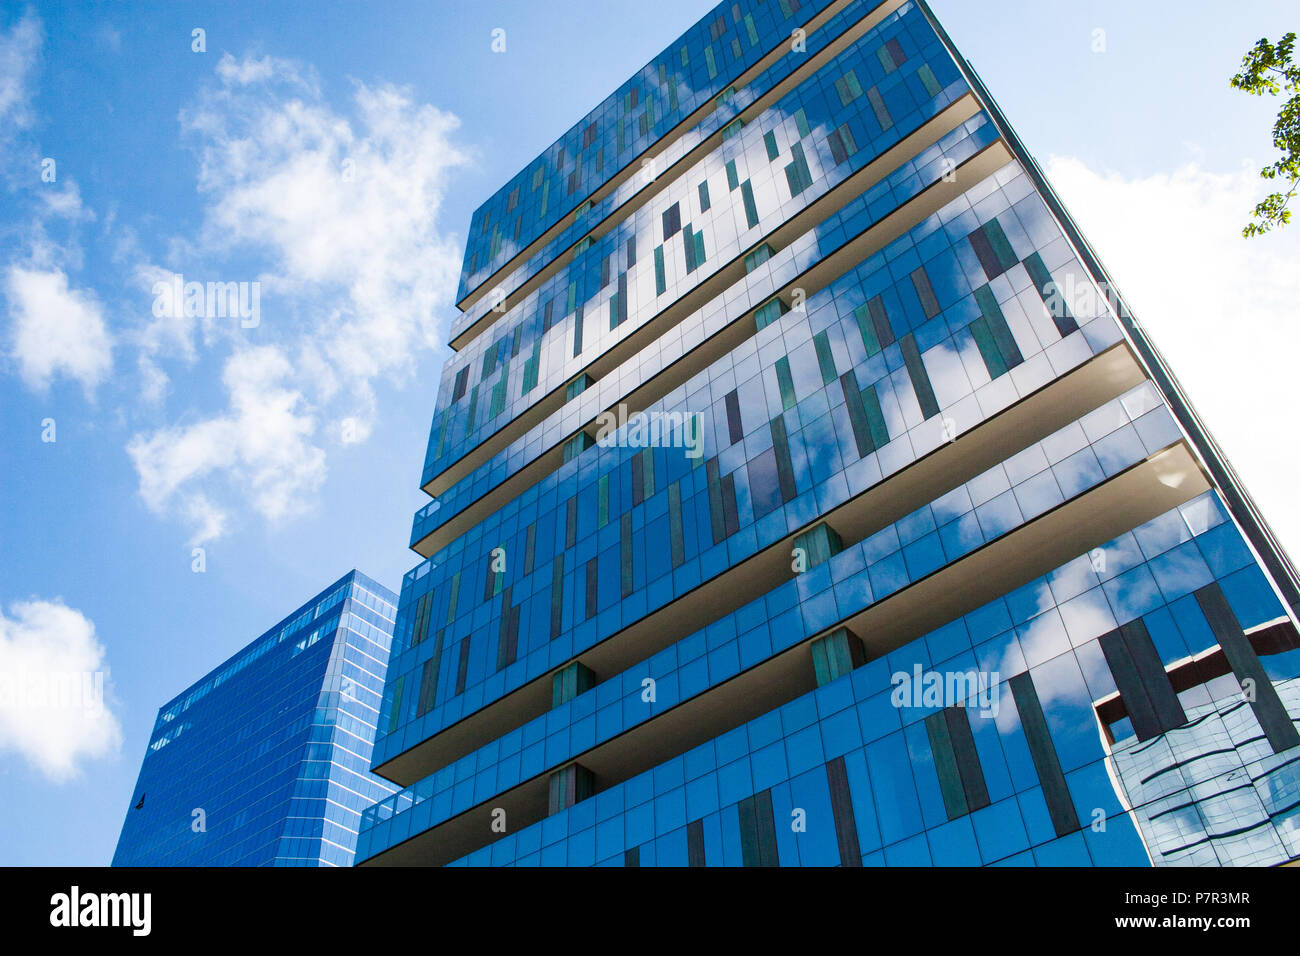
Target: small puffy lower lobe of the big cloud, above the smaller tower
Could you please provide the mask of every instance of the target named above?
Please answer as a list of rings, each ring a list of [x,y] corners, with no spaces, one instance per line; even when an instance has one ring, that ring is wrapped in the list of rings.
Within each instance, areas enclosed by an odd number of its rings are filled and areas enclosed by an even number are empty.
[[[325,479],[325,453],[309,441],[316,420],[291,378],[278,349],[238,351],[222,373],[225,414],[133,437],[127,453],[146,503],[159,512],[178,506],[196,528],[195,544],[225,527],[225,510],[211,499],[216,486],[228,498],[247,496],[269,520],[308,510]]]

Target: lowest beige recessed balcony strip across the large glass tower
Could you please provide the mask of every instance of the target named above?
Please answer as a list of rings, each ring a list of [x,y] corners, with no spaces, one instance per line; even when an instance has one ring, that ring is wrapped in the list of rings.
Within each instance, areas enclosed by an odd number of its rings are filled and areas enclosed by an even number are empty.
[[[814,689],[809,645],[818,637],[846,628],[863,641],[868,662],[879,659],[998,594],[1191,501],[1210,486],[1195,453],[1179,438],[1082,496],[705,693],[597,744],[575,760],[604,784],[598,786],[598,792],[630,779]],[[358,865],[442,866],[454,862],[499,839],[500,834],[491,825],[500,809],[506,810],[512,831],[543,819],[547,816],[547,779],[549,773],[538,774]]]

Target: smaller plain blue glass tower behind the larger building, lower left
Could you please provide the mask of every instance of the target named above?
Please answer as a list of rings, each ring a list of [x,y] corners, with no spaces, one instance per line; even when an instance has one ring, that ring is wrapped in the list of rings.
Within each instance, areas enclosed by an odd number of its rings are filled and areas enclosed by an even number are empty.
[[[350,866],[396,594],[350,571],[159,710],[114,866]]]

